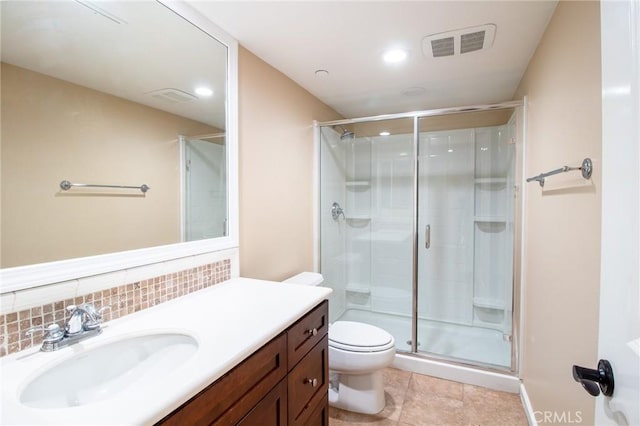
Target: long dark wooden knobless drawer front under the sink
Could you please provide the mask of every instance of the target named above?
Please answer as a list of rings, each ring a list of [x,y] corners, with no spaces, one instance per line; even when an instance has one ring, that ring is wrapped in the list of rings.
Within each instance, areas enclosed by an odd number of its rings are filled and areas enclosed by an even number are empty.
[[[287,335],[283,333],[158,424],[235,425],[286,374]]]

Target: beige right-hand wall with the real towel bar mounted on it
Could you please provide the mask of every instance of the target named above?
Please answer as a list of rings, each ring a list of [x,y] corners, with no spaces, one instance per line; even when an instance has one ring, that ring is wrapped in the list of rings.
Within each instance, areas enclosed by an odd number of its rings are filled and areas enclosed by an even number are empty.
[[[560,2],[517,90],[528,97],[528,175],[594,160],[591,183],[579,172],[526,188],[522,374],[533,409],[581,413],[593,424],[594,399],[571,376],[595,367],[600,277],[600,4]],[[538,420],[544,414],[538,415]]]

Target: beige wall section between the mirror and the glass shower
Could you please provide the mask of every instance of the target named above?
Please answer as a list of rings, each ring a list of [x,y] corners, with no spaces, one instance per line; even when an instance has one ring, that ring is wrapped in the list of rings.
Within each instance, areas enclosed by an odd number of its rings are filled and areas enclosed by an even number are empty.
[[[239,51],[240,275],[313,270],[313,120],[331,108]]]

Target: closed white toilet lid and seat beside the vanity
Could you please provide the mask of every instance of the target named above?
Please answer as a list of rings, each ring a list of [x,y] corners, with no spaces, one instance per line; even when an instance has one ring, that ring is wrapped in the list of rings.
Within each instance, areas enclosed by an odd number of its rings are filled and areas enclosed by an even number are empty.
[[[373,325],[336,321],[329,327],[329,346],[353,352],[377,352],[390,349],[393,336]]]

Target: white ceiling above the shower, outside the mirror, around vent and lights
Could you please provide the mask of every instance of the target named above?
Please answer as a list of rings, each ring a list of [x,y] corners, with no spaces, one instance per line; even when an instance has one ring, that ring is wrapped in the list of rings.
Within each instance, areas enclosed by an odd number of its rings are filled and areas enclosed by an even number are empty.
[[[198,1],[241,45],[344,117],[511,100],[556,1]],[[427,58],[430,34],[497,26],[487,50]],[[382,52],[403,48],[394,66]],[[329,71],[327,77],[315,71]],[[421,87],[421,95],[403,92]]]

